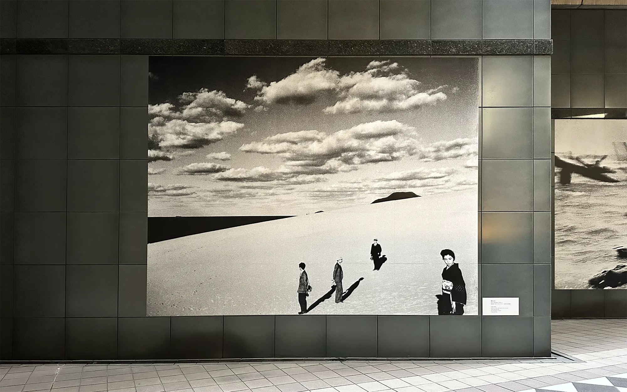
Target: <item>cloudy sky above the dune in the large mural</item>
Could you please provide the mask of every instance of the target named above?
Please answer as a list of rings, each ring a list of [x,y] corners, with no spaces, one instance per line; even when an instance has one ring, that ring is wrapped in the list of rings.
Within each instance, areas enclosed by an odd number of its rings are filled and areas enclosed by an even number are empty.
[[[150,57],[149,216],[477,188],[477,58]]]

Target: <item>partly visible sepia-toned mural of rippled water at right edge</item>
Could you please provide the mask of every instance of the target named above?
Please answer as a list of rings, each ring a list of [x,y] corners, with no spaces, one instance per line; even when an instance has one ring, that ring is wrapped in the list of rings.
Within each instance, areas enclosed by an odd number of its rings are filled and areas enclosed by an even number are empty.
[[[555,288],[627,289],[627,120],[555,120]]]

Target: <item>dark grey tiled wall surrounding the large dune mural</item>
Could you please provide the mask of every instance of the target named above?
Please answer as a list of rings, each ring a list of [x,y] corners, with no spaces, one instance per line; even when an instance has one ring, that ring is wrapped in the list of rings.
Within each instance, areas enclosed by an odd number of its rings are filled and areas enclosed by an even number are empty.
[[[0,3],[0,39],[534,40],[551,38],[550,12],[549,0],[17,0]],[[518,317],[145,317],[148,56],[0,55],[0,359],[547,356],[551,59],[503,45],[512,55],[480,61],[479,290],[519,297]]]

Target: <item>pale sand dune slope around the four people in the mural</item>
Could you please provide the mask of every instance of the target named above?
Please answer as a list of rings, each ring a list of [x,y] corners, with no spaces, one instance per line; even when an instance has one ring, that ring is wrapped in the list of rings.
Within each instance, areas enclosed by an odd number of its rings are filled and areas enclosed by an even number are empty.
[[[386,255],[373,271],[372,239]],[[329,292],[344,258],[342,304],[325,299],[310,314],[438,314],[444,263],[456,254],[466,281],[465,314],[477,314],[477,191],[366,204],[211,231],[148,245],[147,315],[297,314],[298,263]],[[363,278],[362,280],[359,280]]]

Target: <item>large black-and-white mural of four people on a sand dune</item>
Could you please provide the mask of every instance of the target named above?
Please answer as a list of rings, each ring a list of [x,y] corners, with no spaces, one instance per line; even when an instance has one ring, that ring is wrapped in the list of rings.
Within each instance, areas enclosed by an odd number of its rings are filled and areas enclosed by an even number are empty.
[[[149,69],[148,315],[477,315],[478,58]]]

